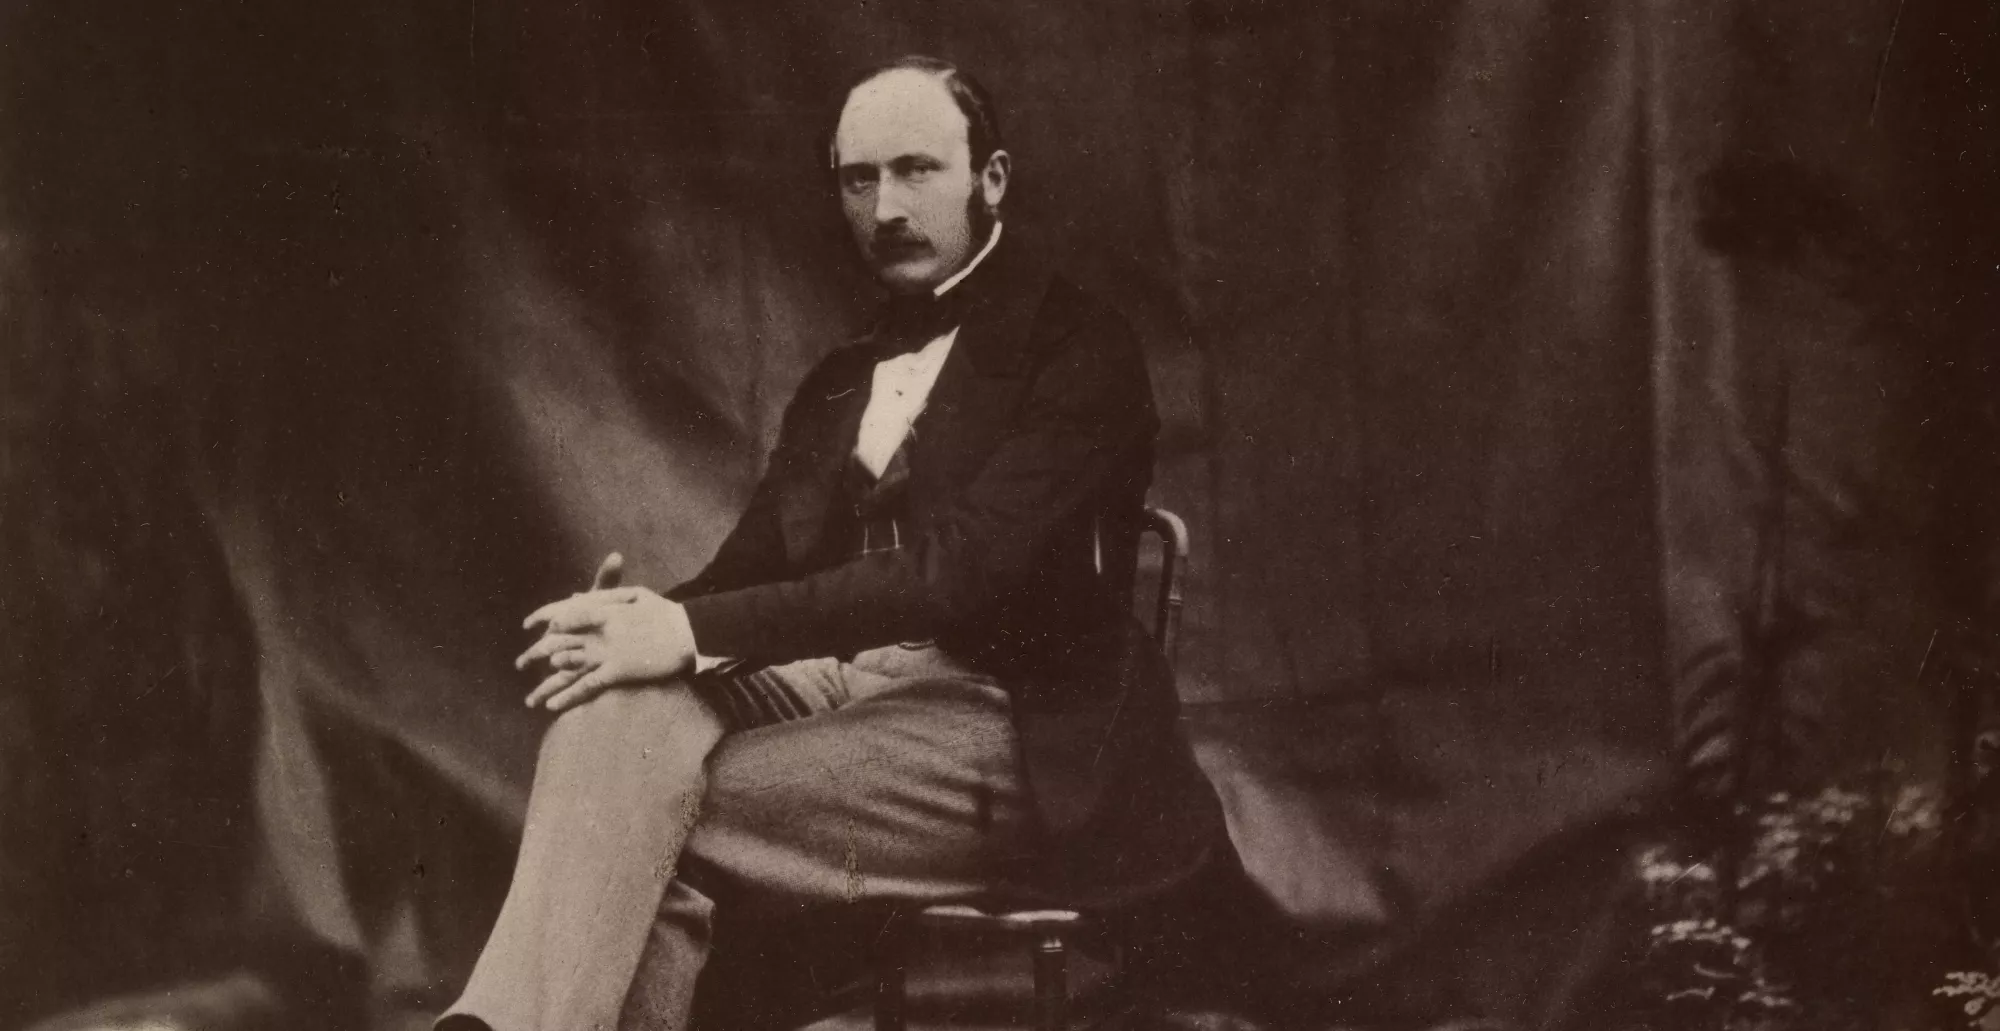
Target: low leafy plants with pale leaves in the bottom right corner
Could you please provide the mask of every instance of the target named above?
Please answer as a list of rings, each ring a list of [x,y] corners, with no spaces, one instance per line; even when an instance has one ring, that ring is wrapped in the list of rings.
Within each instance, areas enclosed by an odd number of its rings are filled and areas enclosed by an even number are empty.
[[[1738,851],[1646,849],[1632,1027],[2000,1031],[2000,951],[1968,881],[1984,819],[1880,769],[1740,807],[1718,835]]]

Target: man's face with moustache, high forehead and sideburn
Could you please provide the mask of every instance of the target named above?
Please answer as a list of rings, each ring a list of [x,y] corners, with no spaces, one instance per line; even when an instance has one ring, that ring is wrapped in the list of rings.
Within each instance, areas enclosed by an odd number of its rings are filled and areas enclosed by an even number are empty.
[[[834,162],[854,244],[896,294],[932,290],[964,268],[986,244],[974,212],[1006,192],[1006,152],[974,170],[964,112],[918,70],[876,76],[848,96]]]

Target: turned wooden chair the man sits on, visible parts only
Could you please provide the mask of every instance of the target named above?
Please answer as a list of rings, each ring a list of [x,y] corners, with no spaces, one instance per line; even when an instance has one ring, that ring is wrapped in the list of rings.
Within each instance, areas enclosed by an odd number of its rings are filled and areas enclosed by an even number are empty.
[[[1180,645],[1180,575],[1188,565],[1188,523],[1172,512],[1148,508],[1140,529],[1160,537],[1160,589],[1154,599],[1152,635],[1172,667]],[[1098,571],[1104,573],[1102,535],[1096,561]],[[1034,1029],[1066,1031],[1070,1019],[1070,945],[1082,935],[1100,933],[1088,915],[1074,909],[988,911],[976,905],[932,905],[914,917],[898,917],[896,923],[906,919],[916,927],[936,931],[1020,939],[1034,965]],[[888,955],[876,969],[876,1031],[906,1029],[908,937],[908,933],[896,933]]]

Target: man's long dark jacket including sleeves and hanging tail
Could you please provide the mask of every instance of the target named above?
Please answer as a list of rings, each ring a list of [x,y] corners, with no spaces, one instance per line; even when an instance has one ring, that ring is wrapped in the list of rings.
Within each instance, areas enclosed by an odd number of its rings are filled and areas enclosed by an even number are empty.
[[[750,508],[670,593],[712,655],[780,663],[936,639],[994,673],[1044,829],[1010,887],[1134,901],[1224,841],[1172,675],[1130,615],[1158,430],[1144,356],[1116,312],[1012,234],[954,290],[968,292],[958,340],[908,442],[904,547],[852,557],[838,533],[874,372],[862,342],[806,376]]]

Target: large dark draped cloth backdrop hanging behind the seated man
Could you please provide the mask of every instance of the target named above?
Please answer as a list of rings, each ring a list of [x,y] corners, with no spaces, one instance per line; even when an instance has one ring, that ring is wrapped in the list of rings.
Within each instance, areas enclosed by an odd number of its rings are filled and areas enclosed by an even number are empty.
[[[1990,581],[1994,18],[10,4],[0,1003],[186,965],[284,905],[244,883],[462,969],[518,621],[728,529],[872,304],[816,142],[902,52],[994,88],[1008,224],[1146,340],[1190,711],[1324,727],[1204,745],[1284,905],[1422,921],[1682,771],[1932,761],[1918,659]]]

